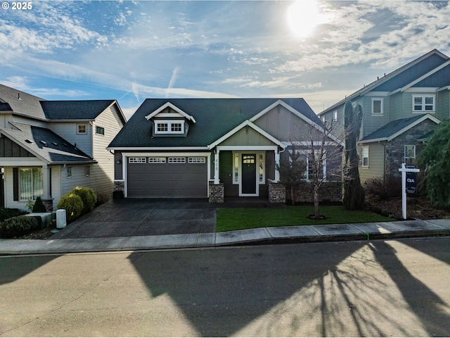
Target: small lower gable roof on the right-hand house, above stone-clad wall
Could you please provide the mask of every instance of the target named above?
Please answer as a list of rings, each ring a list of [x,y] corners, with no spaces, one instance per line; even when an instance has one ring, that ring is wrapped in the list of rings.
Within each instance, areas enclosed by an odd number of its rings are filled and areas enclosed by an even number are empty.
[[[424,120],[430,119],[434,123],[439,124],[440,121],[430,114],[421,114],[417,116],[413,116],[412,118],[401,118],[399,120],[394,120],[387,125],[383,125],[375,132],[368,134],[366,137],[361,139],[359,143],[370,143],[370,142],[378,142],[378,141],[387,141],[390,142],[392,139],[400,136],[404,132],[407,132],[412,127],[422,123]]]

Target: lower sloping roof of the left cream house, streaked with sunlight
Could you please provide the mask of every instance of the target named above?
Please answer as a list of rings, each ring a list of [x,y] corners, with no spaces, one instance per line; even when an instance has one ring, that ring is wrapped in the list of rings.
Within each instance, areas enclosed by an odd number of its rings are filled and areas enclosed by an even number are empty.
[[[96,163],[83,151],[49,129],[21,123],[11,124],[17,129],[2,129],[1,134],[48,164]]]

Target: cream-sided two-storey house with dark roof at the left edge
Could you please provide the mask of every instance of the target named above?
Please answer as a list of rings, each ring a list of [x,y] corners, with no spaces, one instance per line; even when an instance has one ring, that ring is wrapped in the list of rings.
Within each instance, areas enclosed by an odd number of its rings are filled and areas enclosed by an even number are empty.
[[[125,122],[115,100],[45,101],[0,84],[3,205],[26,209],[40,196],[53,208],[77,186],[112,196],[114,156],[106,146]]]

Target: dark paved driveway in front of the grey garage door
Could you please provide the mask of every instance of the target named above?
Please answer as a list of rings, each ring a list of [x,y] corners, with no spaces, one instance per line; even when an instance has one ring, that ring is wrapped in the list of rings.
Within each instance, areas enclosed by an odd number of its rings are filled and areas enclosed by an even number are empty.
[[[198,234],[215,229],[216,206],[207,199],[121,199],[98,206],[51,239]]]

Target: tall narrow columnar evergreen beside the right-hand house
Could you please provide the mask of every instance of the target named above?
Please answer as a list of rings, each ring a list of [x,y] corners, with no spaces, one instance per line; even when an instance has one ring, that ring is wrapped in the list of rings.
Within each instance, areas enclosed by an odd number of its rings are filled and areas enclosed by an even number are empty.
[[[356,142],[359,140],[363,113],[361,104],[347,101],[344,108],[345,166],[344,197],[342,203],[347,210],[361,210],[366,206],[366,194],[359,179],[359,156]]]

